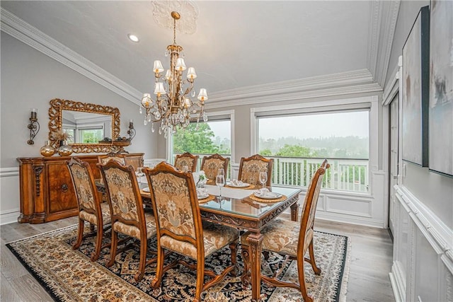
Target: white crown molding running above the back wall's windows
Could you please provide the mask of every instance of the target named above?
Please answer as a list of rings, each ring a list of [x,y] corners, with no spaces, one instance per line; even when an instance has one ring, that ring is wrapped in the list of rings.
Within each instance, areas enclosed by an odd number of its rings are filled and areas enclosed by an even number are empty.
[[[214,109],[373,92],[382,93],[382,87],[372,81],[372,74],[367,69],[360,69],[340,74],[314,76],[212,93],[210,100],[206,103],[206,108]]]

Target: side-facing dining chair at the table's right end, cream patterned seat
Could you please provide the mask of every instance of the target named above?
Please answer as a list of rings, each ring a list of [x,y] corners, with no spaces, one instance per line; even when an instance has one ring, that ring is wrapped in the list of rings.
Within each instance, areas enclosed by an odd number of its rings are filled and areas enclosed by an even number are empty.
[[[324,160],[320,168],[316,170],[316,173],[314,173],[311,178],[310,185],[306,190],[304,207],[302,207],[302,221],[300,223],[277,218],[265,225],[261,231],[261,234],[263,234],[263,252],[276,252],[286,256],[285,262],[280,265],[280,269],[277,269],[277,272],[273,274],[273,277],[261,274],[261,280],[273,286],[298,289],[301,292],[304,301],[313,301],[313,298],[311,298],[306,291],[304,262],[310,263],[311,268],[316,275],[321,274],[321,269],[316,266],[316,261],[314,259],[313,227],[319,191],[321,190],[323,176],[326,174],[326,170],[329,167],[330,165],[327,163],[327,160]],[[246,277],[249,269],[248,242],[246,240],[249,234],[250,232],[247,231],[241,236],[242,255],[244,257],[243,278]],[[307,250],[309,251],[309,258],[305,257]],[[289,260],[297,260],[299,284],[290,281],[282,281],[277,278],[282,273],[282,268],[285,267],[285,263]]]

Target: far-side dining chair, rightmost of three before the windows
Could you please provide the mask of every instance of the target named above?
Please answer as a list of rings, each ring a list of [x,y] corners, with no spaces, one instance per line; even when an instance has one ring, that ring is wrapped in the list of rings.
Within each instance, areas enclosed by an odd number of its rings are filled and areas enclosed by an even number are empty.
[[[260,172],[267,172],[268,180],[266,180],[265,185],[270,186],[273,163],[273,158],[265,158],[260,156],[260,154],[255,154],[248,158],[241,158],[238,180],[251,185],[260,185]]]

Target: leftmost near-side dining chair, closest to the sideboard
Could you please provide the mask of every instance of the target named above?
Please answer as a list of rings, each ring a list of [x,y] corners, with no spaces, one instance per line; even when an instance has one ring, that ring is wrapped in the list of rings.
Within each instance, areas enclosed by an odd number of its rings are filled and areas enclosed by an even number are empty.
[[[77,204],[79,204],[78,235],[72,248],[76,250],[80,247],[84,237],[84,224],[85,221],[88,221],[90,226],[96,226],[96,243],[93,254],[91,254],[91,261],[96,261],[101,249],[109,246],[102,246],[102,239],[104,227],[110,223],[110,208],[107,203],[101,202],[94,183],[93,172],[88,163],[73,157],[71,161],[67,161],[67,166],[76,192]]]

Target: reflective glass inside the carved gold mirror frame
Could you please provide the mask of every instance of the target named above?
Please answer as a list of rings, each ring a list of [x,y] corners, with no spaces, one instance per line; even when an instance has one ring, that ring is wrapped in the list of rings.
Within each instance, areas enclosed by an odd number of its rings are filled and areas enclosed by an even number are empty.
[[[112,138],[112,115],[62,110],[62,132],[68,144],[99,144]]]

